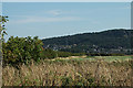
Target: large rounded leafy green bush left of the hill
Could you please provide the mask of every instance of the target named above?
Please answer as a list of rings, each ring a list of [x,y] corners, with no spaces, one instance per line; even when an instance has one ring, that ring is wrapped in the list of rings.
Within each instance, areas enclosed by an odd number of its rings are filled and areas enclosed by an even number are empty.
[[[28,63],[30,59],[39,61],[42,52],[42,42],[38,36],[13,37],[2,44],[3,63],[19,64]]]

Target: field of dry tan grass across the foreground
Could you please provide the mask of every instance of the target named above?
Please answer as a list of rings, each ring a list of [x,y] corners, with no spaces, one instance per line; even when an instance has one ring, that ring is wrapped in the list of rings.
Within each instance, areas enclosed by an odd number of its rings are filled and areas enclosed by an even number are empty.
[[[45,59],[3,67],[3,86],[132,86],[131,56]]]

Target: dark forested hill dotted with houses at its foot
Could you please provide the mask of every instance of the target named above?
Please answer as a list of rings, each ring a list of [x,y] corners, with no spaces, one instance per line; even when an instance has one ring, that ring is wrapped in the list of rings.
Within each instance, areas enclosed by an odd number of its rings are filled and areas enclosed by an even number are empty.
[[[45,48],[73,53],[131,53],[133,30],[109,30],[42,40]]]

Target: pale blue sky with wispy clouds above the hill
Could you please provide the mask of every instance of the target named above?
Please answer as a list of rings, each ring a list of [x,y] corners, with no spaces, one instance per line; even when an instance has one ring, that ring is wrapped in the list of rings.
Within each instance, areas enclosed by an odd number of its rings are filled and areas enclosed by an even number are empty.
[[[9,36],[48,38],[131,28],[131,2],[3,2]]]

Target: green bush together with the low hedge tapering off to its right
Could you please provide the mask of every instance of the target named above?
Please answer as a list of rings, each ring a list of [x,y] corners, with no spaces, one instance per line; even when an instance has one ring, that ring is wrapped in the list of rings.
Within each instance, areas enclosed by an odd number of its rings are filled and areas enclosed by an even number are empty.
[[[3,65],[28,64],[31,61],[51,59],[55,57],[81,56],[84,53],[55,52],[50,48],[43,48],[41,40],[35,37],[9,37],[2,43]]]

